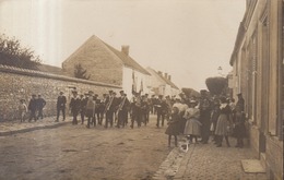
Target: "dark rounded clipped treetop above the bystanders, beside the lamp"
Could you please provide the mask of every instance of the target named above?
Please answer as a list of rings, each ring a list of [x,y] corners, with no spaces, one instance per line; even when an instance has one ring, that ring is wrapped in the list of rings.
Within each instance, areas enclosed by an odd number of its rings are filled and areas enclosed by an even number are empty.
[[[227,79],[222,76],[208,77],[205,84],[212,95],[221,95],[227,86]]]

